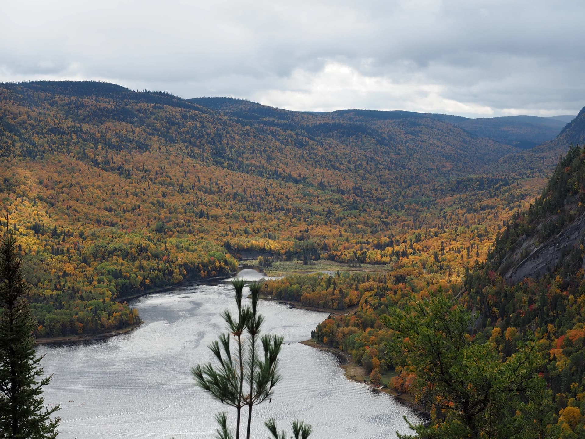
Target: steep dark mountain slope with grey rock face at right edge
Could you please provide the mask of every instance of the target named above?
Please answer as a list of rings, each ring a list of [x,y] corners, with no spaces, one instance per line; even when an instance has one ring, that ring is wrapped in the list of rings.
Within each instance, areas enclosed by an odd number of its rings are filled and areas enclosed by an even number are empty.
[[[578,135],[582,115],[565,138]],[[567,437],[585,431],[581,418],[569,425],[563,417],[569,407],[585,411],[584,202],[585,149],[571,147],[542,196],[510,218],[486,264],[467,276],[462,299],[477,311],[476,341],[508,356],[522,338],[538,340],[548,360],[542,375]]]

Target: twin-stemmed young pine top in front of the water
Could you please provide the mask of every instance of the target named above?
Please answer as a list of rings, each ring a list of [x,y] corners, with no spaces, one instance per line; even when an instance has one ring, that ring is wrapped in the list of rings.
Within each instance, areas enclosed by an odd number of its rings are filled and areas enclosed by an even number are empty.
[[[281,379],[278,373],[278,354],[283,337],[260,336],[260,328],[264,322],[263,315],[259,314],[257,309],[260,284],[250,284],[252,305],[244,306],[242,296],[245,284],[242,279],[232,282],[238,307],[237,317],[228,310],[222,313],[229,332],[235,338],[237,351],[232,353],[230,334],[222,334],[219,336],[219,342],[214,341],[209,345],[209,349],[219,362],[219,367],[208,363],[191,369],[199,386],[211,393],[215,399],[236,408],[236,439],[240,438],[242,409],[246,406],[248,408],[246,439],[250,439],[253,406],[269,399],[273,395],[274,386]],[[215,419],[219,424],[216,438],[233,439],[233,430],[228,427],[228,414],[223,411],[217,414]],[[295,423],[303,428],[305,435],[302,437],[308,438],[311,426],[300,421]],[[276,423],[274,425],[276,426]]]

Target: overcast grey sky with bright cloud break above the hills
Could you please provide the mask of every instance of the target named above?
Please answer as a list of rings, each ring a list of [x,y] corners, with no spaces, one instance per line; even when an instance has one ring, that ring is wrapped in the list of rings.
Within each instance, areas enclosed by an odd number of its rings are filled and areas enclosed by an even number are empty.
[[[0,0],[0,81],[464,116],[585,106],[583,0]]]

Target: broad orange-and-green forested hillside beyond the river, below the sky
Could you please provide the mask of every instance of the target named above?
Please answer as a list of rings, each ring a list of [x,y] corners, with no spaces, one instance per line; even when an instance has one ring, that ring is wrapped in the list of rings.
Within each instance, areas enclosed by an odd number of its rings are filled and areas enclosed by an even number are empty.
[[[1,84],[0,194],[36,335],[136,324],[126,297],[226,275],[243,252],[460,283],[552,164],[490,176],[486,166],[522,151],[453,121],[94,82]]]

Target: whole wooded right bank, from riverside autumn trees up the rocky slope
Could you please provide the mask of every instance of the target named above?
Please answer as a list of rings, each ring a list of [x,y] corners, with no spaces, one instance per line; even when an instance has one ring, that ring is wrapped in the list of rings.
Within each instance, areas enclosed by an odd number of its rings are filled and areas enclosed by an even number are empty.
[[[322,300],[339,310],[358,304],[357,310],[330,315],[313,336],[352,354],[372,380],[379,382],[380,374],[395,369],[389,386],[398,392],[414,390],[417,375],[415,362],[404,366],[390,355],[390,346],[404,336],[384,324],[387,315],[402,309],[411,313],[413,303],[429,298],[432,303],[437,295],[450,297],[473,315],[463,343],[470,349],[493,349],[504,364],[525,352],[526,341],[535,341],[541,355],[536,371],[549,396],[539,414],[528,406],[517,413],[518,419],[534,416],[532,427],[541,422],[542,435],[529,437],[585,437],[584,172],[585,149],[571,146],[541,196],[514,212],[486,261],[466,268],[458,282],[425,272],[411,277],[337,273],[273,280],[266,293],[307,304]],[[442,412],[433,411],[433,423],[441,424]],[[524,421],[521,425],[526,428]],[[510,427],[508,433],[513,431]]]

